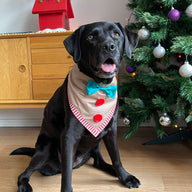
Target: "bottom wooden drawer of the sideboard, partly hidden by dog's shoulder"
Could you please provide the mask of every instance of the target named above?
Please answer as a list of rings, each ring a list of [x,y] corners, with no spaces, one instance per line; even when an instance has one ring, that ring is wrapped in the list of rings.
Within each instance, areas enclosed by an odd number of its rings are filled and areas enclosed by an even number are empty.
[[[33,99],[50,99],[64,79],[33,80]]]

